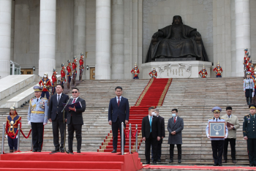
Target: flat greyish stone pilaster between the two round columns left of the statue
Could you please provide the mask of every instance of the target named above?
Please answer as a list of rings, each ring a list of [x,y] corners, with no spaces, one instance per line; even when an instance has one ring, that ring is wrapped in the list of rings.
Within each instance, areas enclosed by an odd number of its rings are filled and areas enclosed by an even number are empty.
[[[74,1],[74,56],[86,54],[86,0]]]

